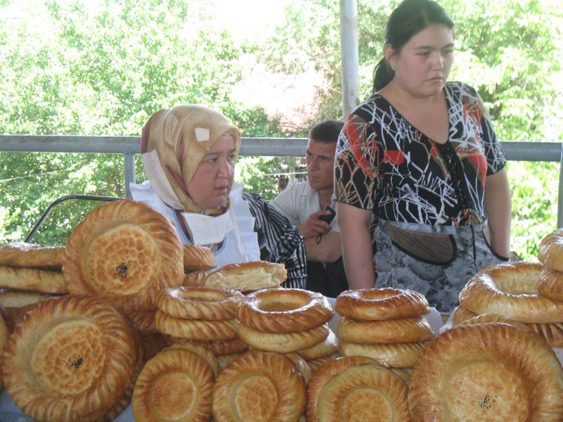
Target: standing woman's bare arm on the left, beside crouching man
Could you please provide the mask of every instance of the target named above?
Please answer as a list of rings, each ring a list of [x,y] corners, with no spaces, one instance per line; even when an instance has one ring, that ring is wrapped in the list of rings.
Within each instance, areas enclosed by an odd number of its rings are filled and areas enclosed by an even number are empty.
[[[372,211],[345,203],[338,203],[336,206],[348,285],[350,289],[373,288],[375,269],[372,236],[369,233]]]

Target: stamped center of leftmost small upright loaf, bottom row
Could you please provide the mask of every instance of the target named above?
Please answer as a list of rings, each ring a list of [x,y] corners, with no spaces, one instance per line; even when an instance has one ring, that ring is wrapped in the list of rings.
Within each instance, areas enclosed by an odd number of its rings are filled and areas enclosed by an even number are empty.
[[[197,401],[198,388],[186,373],[163,373],[151,385],[151,406],[164,421],[184,420],[194,411]]]

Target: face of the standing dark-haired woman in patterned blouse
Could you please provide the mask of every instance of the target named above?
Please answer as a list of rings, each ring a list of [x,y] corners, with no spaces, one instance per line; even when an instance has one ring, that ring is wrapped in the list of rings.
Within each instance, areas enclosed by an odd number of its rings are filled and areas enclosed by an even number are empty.
[[[441,92],[453,64],[453,30],[429,25],[414,35],[396,54],[386,46],[389,64],[396,67],[393,80],[419,97]]]

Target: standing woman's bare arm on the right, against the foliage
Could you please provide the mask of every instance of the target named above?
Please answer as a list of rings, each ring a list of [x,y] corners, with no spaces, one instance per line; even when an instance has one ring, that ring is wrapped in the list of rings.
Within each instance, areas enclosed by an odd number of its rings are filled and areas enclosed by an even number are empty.
[[[485,212],[491,231],[491,247],[498,255],[509,257],[512,203],[505,168],[486,178]]]

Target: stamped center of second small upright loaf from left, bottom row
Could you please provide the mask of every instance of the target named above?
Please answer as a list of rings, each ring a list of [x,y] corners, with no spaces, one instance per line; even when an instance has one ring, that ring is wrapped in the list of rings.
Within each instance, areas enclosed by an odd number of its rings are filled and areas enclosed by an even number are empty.
[[[266,376],[250,376],[236,388],[236,414],[241,421],[270,421],[277,402],[276,388]]]

